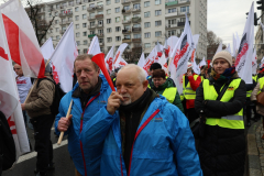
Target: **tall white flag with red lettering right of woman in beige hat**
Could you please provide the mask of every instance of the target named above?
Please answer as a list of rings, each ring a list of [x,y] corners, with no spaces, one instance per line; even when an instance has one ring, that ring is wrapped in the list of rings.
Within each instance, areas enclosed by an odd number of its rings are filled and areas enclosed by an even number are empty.
[[[239,45],[239,52],[235,59],[235,70],[238,72],[241,79],[245,84],[252,84],[252,55],[253,55],[253,41],[254,41],[254,2],[252,2],[249,16],[245,22],[244,32]],[[238,38],[237,38],[238,40]]]

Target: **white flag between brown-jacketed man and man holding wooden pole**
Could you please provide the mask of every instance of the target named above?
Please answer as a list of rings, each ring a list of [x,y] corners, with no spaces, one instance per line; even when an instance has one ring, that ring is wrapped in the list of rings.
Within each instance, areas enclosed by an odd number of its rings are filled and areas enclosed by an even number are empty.
[[[61,82],[64,92],[73,89],[74,61],[76,58],[74,34],[74,23],[72,22],[51,56],[54,80],[56,84]]]

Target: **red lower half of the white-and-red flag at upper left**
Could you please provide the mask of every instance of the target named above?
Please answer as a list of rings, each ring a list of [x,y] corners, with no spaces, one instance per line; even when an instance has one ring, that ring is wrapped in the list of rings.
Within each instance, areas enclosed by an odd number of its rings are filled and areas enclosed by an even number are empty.
[[[21,65],[20,52],[22,52],[30,69],[37,76],[37,78],[43,78],[45,73],[45,63],[42,53],[11,19],[4,14],[2,14],[2,18],[11,58]]]

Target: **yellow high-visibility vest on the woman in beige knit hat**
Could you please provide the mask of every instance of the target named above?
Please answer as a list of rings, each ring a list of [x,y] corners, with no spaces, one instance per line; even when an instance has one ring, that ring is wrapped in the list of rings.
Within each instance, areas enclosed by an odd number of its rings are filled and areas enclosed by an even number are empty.
[[[240,78],[233,79],[230,82],[228,89],[223,94],[220,101],[228,102],[229,100],[231,100],[234,96],[234,91],[240,86],[240,82],[241,82]],[[213,85],[209,85],[208,79],[204,80],[202,87],[204,87],[204,99],[205,100],[217,100],[218,94],[217,94]],[[222,88],[223,88],[223,86],[222,86]],[[213,117],[207,117],[206,124],[219,125],[221,128],[227,128],[227,129],[244,129],[243,108],[238,113],[231,114],[231,116],[226,116],[226,117],[222,117],[221,119],[213,118]]]

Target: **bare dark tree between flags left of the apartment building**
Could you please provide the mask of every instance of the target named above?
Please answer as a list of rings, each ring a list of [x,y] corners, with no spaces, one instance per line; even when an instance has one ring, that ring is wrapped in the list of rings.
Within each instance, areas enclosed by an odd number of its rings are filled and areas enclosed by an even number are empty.
[[[45,20],[45,3],[42,3],[41,0],[25,0],[23,1],[23,4],[26,7],[25,11],[35,30],[37,42],[42,45],[42,40],[45,38],[47,31],[53,25],[55,15],[53,15],[48,21]]]

